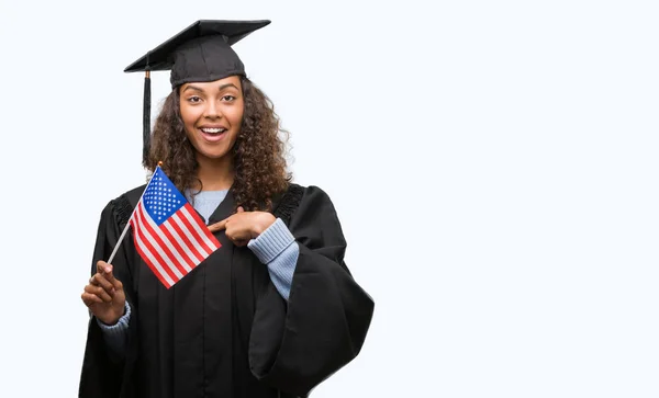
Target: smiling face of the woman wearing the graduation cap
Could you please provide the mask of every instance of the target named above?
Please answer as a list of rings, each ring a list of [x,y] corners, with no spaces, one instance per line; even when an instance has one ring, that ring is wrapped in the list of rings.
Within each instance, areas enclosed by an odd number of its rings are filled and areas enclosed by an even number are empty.
[[[179,90],[181,118],[198,160],[228,158],[245,111],[241,79],[185,83]]]

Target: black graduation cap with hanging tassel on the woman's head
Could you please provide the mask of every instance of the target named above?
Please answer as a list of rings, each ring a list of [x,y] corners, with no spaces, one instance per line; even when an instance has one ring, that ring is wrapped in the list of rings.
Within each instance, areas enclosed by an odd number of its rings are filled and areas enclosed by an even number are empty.
[[[144,71],[143,163],[150,147],[150,71],[170,70],[175,89],[191,81],[205,82],[245,76],[245,66],[231,47],[270,24],[260,21],[200,20],[129,65],[124,72]]]

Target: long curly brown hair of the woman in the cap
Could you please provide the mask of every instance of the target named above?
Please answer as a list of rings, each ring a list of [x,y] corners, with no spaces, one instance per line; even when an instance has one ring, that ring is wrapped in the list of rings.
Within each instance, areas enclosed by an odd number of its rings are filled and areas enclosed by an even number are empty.
[[[248,78],[241,78],[241,83],[245,111],[232,148],[236,174],[231,190],[236,207],[271,211],[272,197],[284,192],[292,179],[284,158],[289,134],[280,128],[270,99]],[[163,170],[181,192],[201,186],[196,149],[186,136],[181,118],[179,88],[167,96],[156,118],[144,167],[153,172],[158,161],[163,161]]]

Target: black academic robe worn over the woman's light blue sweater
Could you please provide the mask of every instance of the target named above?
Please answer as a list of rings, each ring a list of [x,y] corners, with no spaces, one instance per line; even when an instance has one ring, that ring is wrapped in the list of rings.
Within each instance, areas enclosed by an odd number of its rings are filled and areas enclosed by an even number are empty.
[[[144,189],[103,209],[94,264],[109,258]],[[275,214],[300,247],[288,303],[267,266],[223,231],[215,234],[222,247],[169,289],[142,261],[129,231],[113,260],[132,308],[126,355],[113,360],[92,317],[79,396],[303,397],[350,362],[373,302],[344,263],[346,241],[330,197],[294,184],[287,195],[276,198]],[[233,207],[230,191],[209,224]]]

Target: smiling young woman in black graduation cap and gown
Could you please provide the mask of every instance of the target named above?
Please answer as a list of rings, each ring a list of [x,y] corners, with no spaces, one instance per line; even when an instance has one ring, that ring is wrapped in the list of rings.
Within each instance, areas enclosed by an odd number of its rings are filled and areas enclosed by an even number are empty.
[[[145,186],[103,209],[82,302],[81,397],[302,397],[360,351],[373,311],[327,194],[291,183],[279,121],[231,45],[269,21],[198,21],[126,71],[171,70],[144,166],[222,247],[166,288],[129,231]]]

